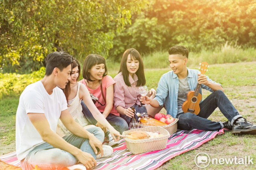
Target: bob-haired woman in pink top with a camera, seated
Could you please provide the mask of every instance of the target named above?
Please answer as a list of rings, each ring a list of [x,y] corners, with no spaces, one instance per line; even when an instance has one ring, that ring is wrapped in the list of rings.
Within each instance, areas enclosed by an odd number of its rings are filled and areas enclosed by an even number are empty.
[[[100,55],[90,54],[84,60],[84,79],[80,82],[86,85],[89,92],[98,98],[98,101],[95,102],[95,106],[102,113],[104,118],[122,134],[123,131],[128,130],[128,125],[125,120],[119,116],[119,113],[113,105],[114,84],[116,82],[107,74],[105,58]],[[88,122],[100,127],[106,133],[107,129],[94,119],[92,113],[83,102],[81,104]]]

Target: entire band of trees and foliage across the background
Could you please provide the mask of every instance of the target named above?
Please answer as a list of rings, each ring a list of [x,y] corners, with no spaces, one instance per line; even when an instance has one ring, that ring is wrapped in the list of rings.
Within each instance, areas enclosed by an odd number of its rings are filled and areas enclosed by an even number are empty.
[[[120,61],[127,48],[141,55],[174,45],[214,51],[226,42],[250,49],[255,18],[255,0],[0,0],[0,70],[39,70],[55,50]]]

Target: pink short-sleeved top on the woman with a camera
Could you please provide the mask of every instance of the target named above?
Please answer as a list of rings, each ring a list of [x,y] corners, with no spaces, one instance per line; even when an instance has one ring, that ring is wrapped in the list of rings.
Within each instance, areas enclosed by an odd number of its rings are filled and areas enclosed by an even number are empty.
[[[86,85],[85,83],[85,80],[82,79],[79,81],[80,83],[83,83],[84,85]],[[104,76],[102,78],[102,91],[103,91],[103,94],[104,94],[104,97],[105,97],[105,100],[107,100],[106,98],[106,89],[110,86],[110,85],[113,85],[115,84],[116,82],[113,80],[113,78],[111,76]],[[103,97],[101,95],[101,90],[100,90],[100,85],[96,88],[96,89],[90,89],[87,85],[86,85],[87,89],[89,90],[90,93],[92,93],[94,96],[96,96],[98,99],[99,99],[99,102],[104,105],[105,102],[103,100]],[[106,104],[104,106],[101,106],[100,103],[96,102],[95,103],[95,106],[97,107],[97,109],[100,111],[100,112],[104,112],[104,109],[106,107]],[[114,104],[113,104],[113,107],[110,111],[110,113],[112,113],[113,115],[116,115],[116,116],[120,116],[119,113],[116,111],[115,107],[114,107]]]

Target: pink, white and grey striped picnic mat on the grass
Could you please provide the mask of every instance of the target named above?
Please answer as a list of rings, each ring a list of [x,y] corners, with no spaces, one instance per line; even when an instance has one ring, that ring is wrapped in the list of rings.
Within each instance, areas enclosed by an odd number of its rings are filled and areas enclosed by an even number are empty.
[[[169,137],[167,146],[163,150],[151,151],[140,154],[132,154],[127,148],[125,140],[119,141],[113,148],[114,152],[108,158],[97,160],[97,166],[93,170],[154,170],[163,165],[164,162],[182,153],[195,149],[205,142],[213,139],[216,135],[224,134],[224,129],[219,131],[204,131],[198,129],[178,130]],[[103,144],[108,144],[104,141]],[[11,152],[0,156],[0,160],[13,165],[5,168],[6,170],[20,170],[20,162],[16,152]],[[1,163],[1,162],[0,162]],[[0,169],[2,168],[0,164]]]

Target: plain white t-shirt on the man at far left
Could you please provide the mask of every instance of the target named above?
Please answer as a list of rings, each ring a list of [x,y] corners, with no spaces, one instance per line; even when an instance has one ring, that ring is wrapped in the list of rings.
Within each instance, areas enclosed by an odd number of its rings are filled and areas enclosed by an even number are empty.
[[[24,159],[34,147],[44,143],[27,114],[44,114],[52,131],[56,132],[61,111],[66,109],[67,100],[59,87],[55,87],[51,95],[46,92],[41,81],[25,88],[16,112],[16,152],[19,160]]]

